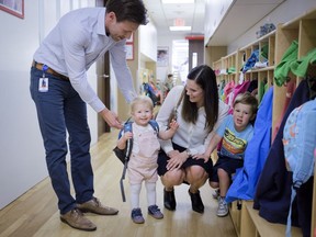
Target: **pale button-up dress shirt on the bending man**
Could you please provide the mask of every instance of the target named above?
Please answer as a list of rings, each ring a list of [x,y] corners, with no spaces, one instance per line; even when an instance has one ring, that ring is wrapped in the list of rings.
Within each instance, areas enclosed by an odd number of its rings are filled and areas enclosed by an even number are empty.
[[[88,82],[87,70],[109,50],[119,88],[127,102],[135,91],[126,63],[126,40],[105,33],[105,8],[82,8],[65,14],[34,54],[34,60],[69,77],[75,90],[94,111],[105,105]]]

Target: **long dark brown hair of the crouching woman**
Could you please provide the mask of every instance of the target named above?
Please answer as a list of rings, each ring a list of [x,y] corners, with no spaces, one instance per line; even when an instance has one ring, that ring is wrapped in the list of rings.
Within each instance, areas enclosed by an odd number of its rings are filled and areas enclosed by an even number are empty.
[[[195,83],[203,89],[206,114],[205,128],[208,132],[212,132],[218,119],[218,91],[215,72],[207,65],[201,65],[189,72],[188,79],[194,80]],[[196,106],[196,103],[190,102],[185,89],[183,93],[182,117],[185,122],[195,124],[198,121],[199,108]]]

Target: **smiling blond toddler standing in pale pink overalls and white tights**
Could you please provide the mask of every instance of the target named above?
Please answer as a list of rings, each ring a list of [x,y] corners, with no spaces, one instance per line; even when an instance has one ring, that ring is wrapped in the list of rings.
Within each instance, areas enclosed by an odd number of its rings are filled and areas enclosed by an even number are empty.
[[[170,139],[177,128],[178,123],[172,121],[168,131],[154,131],[149,121],[153,119],[154,104],[149,97],[140,95],[131,103],[131,115],[133,123],[133,134],[126,132],[117,142],[120,149],[125,149],[127,139],[133,137],[133,149],[129,157],[127,172],[131,184],[132,219],[136,224],[145,222],[139,208],[139,193],[142,182],[145,181],[148,202],[148,214],[154,218],[163,218],[163,214],[156,205],[156,182],[157,158],[160,149],[160,139]]]

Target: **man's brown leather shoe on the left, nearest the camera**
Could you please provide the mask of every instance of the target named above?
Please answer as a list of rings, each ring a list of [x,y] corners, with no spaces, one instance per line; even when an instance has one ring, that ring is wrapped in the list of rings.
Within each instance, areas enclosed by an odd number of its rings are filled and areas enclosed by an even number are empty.
[[[64,215],[60,215],[60,221],[68,224],[72,228],[93,232],[97,226],[83,216],[83,214],[78,208],[74,208]]]

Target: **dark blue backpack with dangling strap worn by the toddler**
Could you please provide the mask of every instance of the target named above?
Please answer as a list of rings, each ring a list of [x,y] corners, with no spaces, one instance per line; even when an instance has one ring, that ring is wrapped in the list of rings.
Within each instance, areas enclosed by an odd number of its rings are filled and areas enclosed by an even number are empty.
[[[153,129],[156,132],[156,134],[158,135],[159,133],[159,125],[155,120],[150,120],[149,121],[150,126],[153,127]],[[119,139],[122,137],[123,133],[127,133],[131,132],[133,133],[133,121],[131,121],[131,119],[128,119],[125,123],[123,128],[120,131],[119,133]],[[116,155],[116,157],[123,162],[124,167],[123,167],[123,172],[122,172],[122,177],[120,180],[120,187],[121,187],[121,193],[122,193],[122,200],[123,202],[126,202],[126,198],[125,198],[125,192],[124,192],[124,185],[123,185],[123,180],[125,179],[125,173],[126,173],[126,169],[127,169],[127,162],[129,160],[131,154],[132,154],[132,149],[133,149],[133,138],[127,140],[126,147],[125,149],[120,149],[117,146],[115,146],[115,148],[113,149],[114,154]]]

